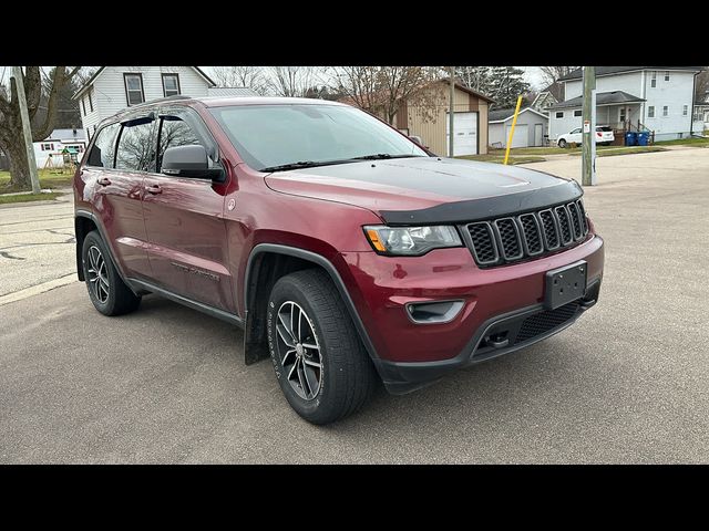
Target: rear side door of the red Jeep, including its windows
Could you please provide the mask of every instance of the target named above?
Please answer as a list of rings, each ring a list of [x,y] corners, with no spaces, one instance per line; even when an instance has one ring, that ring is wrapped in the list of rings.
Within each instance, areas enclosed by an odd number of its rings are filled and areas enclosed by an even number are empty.
[[[95,214],[123,271],[129,277],[150,278],[142,196],[144,169],[150,167],[151,158],[155,164],[155,149],[150,149],[152,119],[140,117],[135,122],[111,124],[96,135],[83,168],[84,180],[94,186]],[[122,146],[117,159],[116,144]]]

